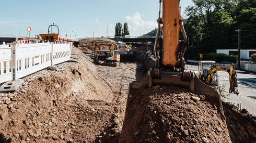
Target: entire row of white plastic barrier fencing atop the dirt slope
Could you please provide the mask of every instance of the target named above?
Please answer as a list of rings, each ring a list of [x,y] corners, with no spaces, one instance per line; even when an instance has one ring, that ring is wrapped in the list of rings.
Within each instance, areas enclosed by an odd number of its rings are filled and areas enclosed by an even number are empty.
[[[69,60],[71,48],[72,43],[67,42],[3,42],[0,45],[0,84]]]

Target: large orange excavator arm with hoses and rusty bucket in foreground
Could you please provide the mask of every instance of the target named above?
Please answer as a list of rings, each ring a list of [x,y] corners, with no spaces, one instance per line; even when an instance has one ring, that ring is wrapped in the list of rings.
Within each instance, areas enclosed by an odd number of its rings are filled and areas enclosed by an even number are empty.
[[[223,112],[222,100],[218,92],[198,79],[193,71],[184,70],[183,55],[189,45],[189,37],[185,32],[184,19],[180,14],[180,0],[160,0],[159,3],[158,30],[154,46],[155,66],[150,67],[141,79],[130,83],[129,93],[132,88],[145,85],[149,88],[156,85],[179,86],[189,89],[191,93],[217,97],[218,102],[216,103],[220,105]],[[158,42],[160,30],[162,41]],[[183,35],[183,40],[179,40],[179,33]],[[208,76],[211,76],[212,73]],[[235,82],[235,80],[232,80],[232,82]],[[230,92],[234,92],[234,90],[234,88],[230,88]]]

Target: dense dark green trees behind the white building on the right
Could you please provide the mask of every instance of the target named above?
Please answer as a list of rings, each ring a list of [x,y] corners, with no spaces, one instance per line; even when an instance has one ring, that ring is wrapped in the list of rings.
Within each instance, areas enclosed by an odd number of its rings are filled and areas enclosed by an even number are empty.
[[[256,1],[255,0],[192,0],[194,6],[185,8],[187,19],[184,28],[190,38],[185,57],[197,53],[216,53],[216,49],[237,48],[241,29],[241,49],[255,49]],[[221,57],[221,56],[217,56]],[[223,55],[223,59],[226,56]],[[226,57],[232,62],[236,57]],[[207,60],[214,60],[210,55]]]

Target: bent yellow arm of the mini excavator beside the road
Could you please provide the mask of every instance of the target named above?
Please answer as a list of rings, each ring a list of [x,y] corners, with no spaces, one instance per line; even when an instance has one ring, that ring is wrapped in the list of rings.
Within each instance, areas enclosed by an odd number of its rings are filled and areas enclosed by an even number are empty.
[[[228,72],[228,74],[229,74],[229,84],[230,84],[229,93],[236,92],[235,87],[238,87],[238,86],[237,86],[237,73],[236,73],[234,64],[231,64],[230,68],[216,67],[216,66],[213,65],[211,67],[211,69],[209,70],[208,74],[206,75],[205,83],[211,84],[212,76],[216,71],[226,71],[226,72]]]

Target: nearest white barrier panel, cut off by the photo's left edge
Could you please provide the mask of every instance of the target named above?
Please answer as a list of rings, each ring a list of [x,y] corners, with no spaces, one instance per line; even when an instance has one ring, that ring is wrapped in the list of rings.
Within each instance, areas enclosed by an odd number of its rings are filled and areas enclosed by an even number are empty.
[[[0,83],[13,80],[13,46],[0,45]]]

